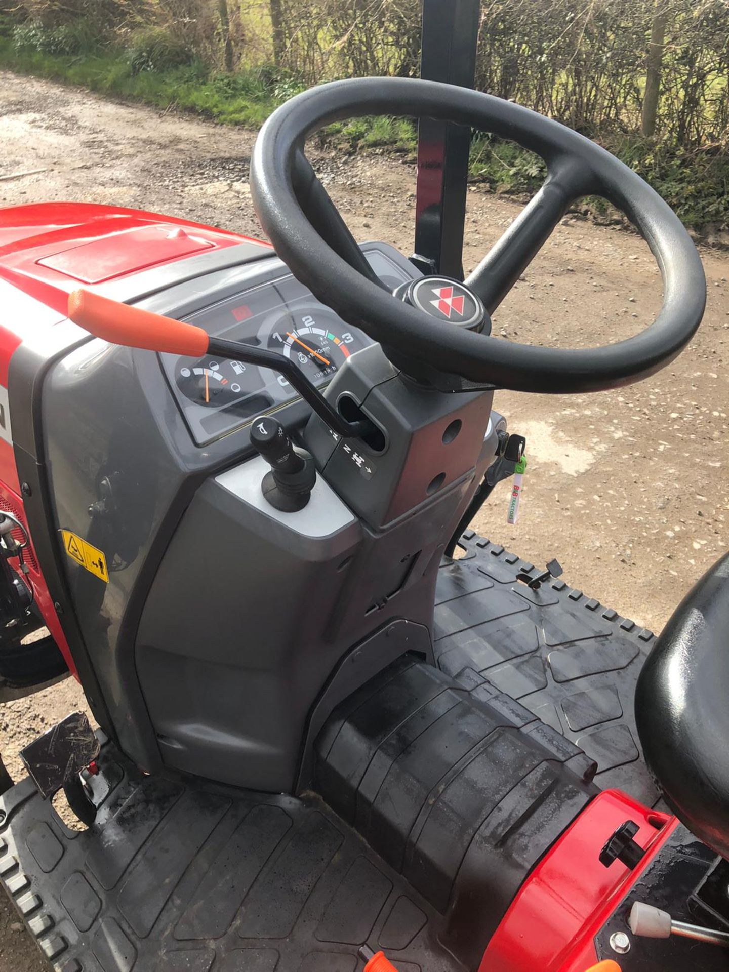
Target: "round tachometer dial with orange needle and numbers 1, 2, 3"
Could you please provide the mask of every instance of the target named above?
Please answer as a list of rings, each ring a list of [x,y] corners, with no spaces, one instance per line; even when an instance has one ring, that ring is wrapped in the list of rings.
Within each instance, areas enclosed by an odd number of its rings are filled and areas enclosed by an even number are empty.
[[[312,382],[319,383],[364,347],[364,341],[359,331],[347,330],[333,311],[304,307],[276,322],[268,347],[291,359]]]

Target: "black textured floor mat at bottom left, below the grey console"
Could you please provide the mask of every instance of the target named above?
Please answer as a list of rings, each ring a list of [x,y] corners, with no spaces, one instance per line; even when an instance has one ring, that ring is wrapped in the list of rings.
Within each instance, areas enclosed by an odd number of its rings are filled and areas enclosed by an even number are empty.
[[[0,799],[0,876],[62,972],[456,972],[442,921],[316,797],[145,778],[112,746],[97,822],[68,830],[31,781]]]

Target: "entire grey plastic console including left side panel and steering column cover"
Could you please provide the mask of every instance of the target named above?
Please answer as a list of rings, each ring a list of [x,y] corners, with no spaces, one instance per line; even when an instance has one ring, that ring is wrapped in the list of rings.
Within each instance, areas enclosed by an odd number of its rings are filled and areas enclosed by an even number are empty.
[[[143,302],[184,317],[282,269],[217,268]],[[94,711],[150,772],[305,786],[331,709],[400,654],[433,657],[442,550],[494,460],[490,393],[424,391],[378,347],[351,355],[327,394],[349,396],[384,442],[309,426],[300,442],[323,478],[282,520],[256,489],[245,424],[197,445],[155,354],[78,338],[34,379],[33,413],[47,546]],[[276,415],[295,434],[310,412]],[[60,529],[105,552],[108,584],[63,556]]]

